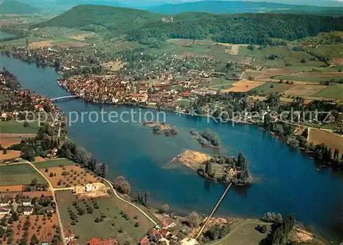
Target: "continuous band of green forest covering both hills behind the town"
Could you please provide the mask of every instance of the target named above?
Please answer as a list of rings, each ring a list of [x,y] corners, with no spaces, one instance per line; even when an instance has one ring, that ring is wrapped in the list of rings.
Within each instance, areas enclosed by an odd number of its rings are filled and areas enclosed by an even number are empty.
[[[311,14],[206,14],[188,12],[161,21],[160,14],[105,5],[78,5],[35,27],[65,26],[102,32],[110,37],[126,34],[143,44],[167,38],[210,39],[223,43],[266,44],[270,38],[295,40],[319,32],[343,30],[343,17]]]

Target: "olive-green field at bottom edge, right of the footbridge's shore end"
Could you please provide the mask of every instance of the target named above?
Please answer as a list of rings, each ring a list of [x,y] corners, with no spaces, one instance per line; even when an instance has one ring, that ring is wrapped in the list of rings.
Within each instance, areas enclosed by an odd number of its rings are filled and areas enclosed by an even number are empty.
[[[261,221],[237,220],[231,225],[231,231],[219,242],[211,245],[258,245],[259,242],[267,235],[255,230],[257,225],[265,224],[270,229],[270,224]]]

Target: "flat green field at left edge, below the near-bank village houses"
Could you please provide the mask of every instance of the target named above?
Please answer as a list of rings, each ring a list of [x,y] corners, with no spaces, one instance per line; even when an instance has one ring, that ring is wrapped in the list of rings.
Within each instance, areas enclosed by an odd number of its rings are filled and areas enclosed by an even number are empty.
[[[36,121],[29,123],[28,127],[24,127],[23,123],[17,121],[0,121],[0,134],[36,134],[39,128]]]

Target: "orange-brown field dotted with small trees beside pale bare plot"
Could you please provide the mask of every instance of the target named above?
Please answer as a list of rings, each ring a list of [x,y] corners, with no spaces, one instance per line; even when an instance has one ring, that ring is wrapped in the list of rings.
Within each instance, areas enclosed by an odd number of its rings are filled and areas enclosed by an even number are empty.
[[[37,163],[39,165],[39,163]],[[39,171],[47,177],[54,188],[73,187],[87,183],[99,182],[93,174],[75,165],[63,167],[40,168]]]

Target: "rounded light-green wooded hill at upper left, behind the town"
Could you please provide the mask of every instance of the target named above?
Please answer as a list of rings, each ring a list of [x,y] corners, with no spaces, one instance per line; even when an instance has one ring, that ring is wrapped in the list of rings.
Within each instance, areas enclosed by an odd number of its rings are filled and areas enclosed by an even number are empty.
[[[95,32],[99,30],[99,27],[106,27],[113,35],[116,35],[160,19],[159,14],[145,10],[85,4],[77,5],[54,19],[39,23],[36,27],[83,27],[84,30]]]

